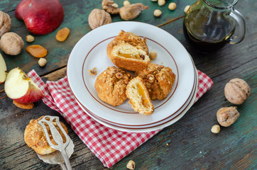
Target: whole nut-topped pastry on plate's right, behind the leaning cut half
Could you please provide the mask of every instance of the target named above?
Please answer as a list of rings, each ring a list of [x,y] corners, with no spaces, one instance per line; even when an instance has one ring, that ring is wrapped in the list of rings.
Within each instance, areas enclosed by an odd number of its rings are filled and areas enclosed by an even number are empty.
[[[141,77],[152,100],[163,100],[173,89],[175,74],[169,67],[150,63],[146,69],[136,72]]]

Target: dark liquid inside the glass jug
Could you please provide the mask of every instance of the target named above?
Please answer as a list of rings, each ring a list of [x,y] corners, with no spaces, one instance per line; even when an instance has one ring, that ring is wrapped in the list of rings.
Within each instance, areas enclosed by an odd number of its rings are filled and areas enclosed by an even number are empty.
[[[208,23],[203,26],[201,30],[197,29],[197,26],[187,30],[185,22],[183,23],[183,32],[185,38],[191,42],[192,46],[198,52],[214,52],[219,50],[229,42],[229,38],[234,33],[234,28],[228,20],[219,20],[219,22]],[[202,33],[200,38],[196,38],[195,35]]]

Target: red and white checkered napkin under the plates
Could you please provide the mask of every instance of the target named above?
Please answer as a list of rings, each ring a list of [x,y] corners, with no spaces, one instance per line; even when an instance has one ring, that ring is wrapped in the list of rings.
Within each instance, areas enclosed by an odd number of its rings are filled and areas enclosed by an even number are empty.
[[[67,123],[70,123],[84,144],[108,168],[160,132],[160,130],[140,133],[122,132],[107,128],[82,111],[70,91],[67,77],[58,81],[47,81],[46,84],[34,70],[28,73],[28,77],[31,77],[45,93],[43,102],[58,111]],[[213,85],[212,79],[206,74],[198,71],[198,77],[199,84],[195,102]]]

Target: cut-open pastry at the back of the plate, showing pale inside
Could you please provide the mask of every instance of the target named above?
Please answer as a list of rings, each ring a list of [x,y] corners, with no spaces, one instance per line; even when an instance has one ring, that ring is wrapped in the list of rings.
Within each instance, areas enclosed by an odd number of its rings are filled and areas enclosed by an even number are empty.
[[[139,71],[151,62],[148,56],[146,38],[121,30],[114,40],[107,45],[107,55],[116,67]]]

